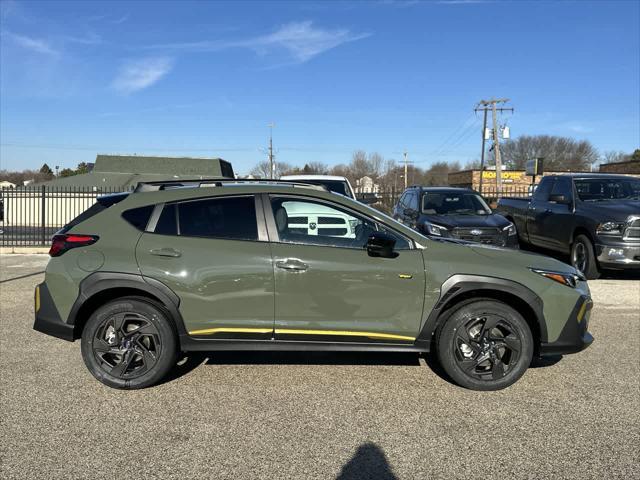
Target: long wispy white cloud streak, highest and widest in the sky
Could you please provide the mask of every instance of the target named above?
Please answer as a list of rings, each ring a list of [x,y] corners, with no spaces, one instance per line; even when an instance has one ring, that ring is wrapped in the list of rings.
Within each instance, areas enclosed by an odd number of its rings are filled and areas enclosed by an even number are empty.
[[[285,50],[296,62],[303,63],[313,57],[338,47],[370,36],[369,33],[353,33],[348,29],[323,29],[311,21],[291,22],[273,33],[240,40],[201,41],[152,45],[151,49],[214,52],[230,48],[248,48],[266,55]]]

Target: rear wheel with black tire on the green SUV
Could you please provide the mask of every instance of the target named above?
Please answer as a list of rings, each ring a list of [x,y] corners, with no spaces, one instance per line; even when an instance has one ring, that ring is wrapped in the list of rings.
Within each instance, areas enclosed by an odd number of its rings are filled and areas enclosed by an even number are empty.
[[[99,307],[82,332],[82,359],[113,388],[158,383],[174,367],[177,335],[168,312],[152,300],[124,297]]]

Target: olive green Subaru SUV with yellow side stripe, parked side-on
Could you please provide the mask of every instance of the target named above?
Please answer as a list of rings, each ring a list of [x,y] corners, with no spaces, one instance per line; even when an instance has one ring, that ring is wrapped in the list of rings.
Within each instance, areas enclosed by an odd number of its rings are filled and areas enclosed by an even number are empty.
[[[116,388],[159,382],[179,352],[330,350],[431,352],[457,384],[497,390],[593,341],[574,268],[429,239],[314,185],[140,184],[99,198],[50,255],[34,328],[80,339]]]

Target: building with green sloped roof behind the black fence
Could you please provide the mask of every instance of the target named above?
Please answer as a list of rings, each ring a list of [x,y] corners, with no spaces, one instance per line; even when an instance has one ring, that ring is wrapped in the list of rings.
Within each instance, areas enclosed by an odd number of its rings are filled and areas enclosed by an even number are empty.
[[[231,163],[221,158],[98,155],[89,173],[58,177],[39,185],[47,187],[130,190],[139,182],[234,178]]]

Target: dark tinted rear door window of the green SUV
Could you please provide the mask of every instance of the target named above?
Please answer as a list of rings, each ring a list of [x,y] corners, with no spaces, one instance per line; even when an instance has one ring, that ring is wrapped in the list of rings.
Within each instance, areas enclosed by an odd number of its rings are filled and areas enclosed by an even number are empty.
[[[181,236],[229,240],[258,239],[253,196],[181,202],[177,204],[177,208],[178,234]]]

